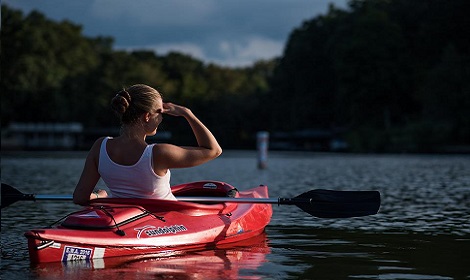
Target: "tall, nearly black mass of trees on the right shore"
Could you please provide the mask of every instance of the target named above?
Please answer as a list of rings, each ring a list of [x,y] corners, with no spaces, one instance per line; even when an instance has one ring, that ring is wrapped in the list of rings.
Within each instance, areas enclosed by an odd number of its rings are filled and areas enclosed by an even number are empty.
[[[272,80],[273,127],[344,128],[362,152],[469,145],[469,10],[465,0],[356,0],[304,22]]]

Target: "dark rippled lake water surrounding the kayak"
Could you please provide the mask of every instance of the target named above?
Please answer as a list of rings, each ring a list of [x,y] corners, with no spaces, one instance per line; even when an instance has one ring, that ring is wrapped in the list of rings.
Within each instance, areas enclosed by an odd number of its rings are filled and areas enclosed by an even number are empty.
[[[2,183],[25,193],[71,194],[84,157],[2,153]],[[274,205],[266,233],[249,244],[136,261],[31,266],[23,233],[78,206],[21,201],[1,213],[2,279],[470,279],[470,156],[270,152],[268,167],[256,166],[254,151],[228,151],[203,166],[173,170],[172,183],[217,180],[240,190],[266,184],[271,197],[317,188],[378,190],[380,212],[319,219]]]

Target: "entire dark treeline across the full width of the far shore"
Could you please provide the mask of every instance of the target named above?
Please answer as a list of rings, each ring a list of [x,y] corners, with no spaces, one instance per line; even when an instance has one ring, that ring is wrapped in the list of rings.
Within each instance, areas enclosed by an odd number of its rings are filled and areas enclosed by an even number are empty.
[[[2,5],[1,122],[118,126],[109,101],[149,84],[190,107],[225,148],[259,130],[341,131],[351,151],[470,145],[470,2],[351,1],[292,31],[282,57],[227,68],[190,56],[113,49],[81,26]],[[187,126],[167,118],[176,141]]]

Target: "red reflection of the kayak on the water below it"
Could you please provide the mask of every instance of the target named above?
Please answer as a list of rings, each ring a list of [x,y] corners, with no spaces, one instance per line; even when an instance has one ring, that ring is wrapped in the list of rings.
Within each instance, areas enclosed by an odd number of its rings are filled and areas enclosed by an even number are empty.
[[[121,279],[240,279],[247,269],[257,270],[263,265],[270,252],[266,233],[261,233],[211,250],[40,263],[34,265],[34,271],[39,279],[50,279],[51,275],[54,279],[96,279],[97,269],[101,270],[100,279],[114,279],[116,275]]]

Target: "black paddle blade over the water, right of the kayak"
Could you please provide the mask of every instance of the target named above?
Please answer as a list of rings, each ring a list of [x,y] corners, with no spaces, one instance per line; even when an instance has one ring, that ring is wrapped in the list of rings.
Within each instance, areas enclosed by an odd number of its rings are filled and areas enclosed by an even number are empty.
[[[319,218],[350,218],[377,214],[378,191],[311,190],[292,199],[293,204]]]

